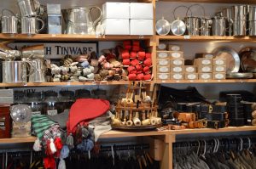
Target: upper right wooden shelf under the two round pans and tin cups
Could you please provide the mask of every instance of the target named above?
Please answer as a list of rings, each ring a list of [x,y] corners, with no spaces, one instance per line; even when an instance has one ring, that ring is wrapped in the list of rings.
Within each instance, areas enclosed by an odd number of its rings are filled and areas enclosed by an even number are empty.
[[[256,37],[218,37],[218,36],[156,36],[157,44],[161,40],[186,41],[186,42],[254,42]]]

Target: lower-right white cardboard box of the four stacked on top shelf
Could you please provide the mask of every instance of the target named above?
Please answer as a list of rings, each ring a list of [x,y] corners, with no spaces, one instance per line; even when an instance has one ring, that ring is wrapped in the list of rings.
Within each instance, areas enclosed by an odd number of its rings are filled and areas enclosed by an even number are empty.
[[[153,35],[153,20],[130,20],[131,35]]]

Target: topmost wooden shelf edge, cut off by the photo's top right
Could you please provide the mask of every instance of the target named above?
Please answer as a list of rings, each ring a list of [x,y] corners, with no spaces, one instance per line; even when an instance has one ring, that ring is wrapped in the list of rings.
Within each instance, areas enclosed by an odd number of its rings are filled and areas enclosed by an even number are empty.
[[[256,0],[158,0],[166,2],[178,2],[178,3],[241,3],[241,4],[256,4]]]

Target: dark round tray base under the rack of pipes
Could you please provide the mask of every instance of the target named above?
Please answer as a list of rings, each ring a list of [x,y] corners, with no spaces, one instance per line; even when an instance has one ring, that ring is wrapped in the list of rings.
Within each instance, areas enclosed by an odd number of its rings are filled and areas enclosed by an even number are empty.
[[[113,130],[120,130],[125,132],[147,132],[147,131],[153,131],[157,128],[157,126],[112,126]]]

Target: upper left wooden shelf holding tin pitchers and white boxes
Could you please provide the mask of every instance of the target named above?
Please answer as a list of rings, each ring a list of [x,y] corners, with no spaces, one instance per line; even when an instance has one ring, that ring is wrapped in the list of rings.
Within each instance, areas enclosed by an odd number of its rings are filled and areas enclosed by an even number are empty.
[[[36,34],[28,37],[24,34],[16,34],[14,36],[8,34],[0,34],[1,40],[14,41],[122,41],[136,39],[150,39],[153,36],[102,36],[96,37],[92,35],[70,35],[70,34]]]

